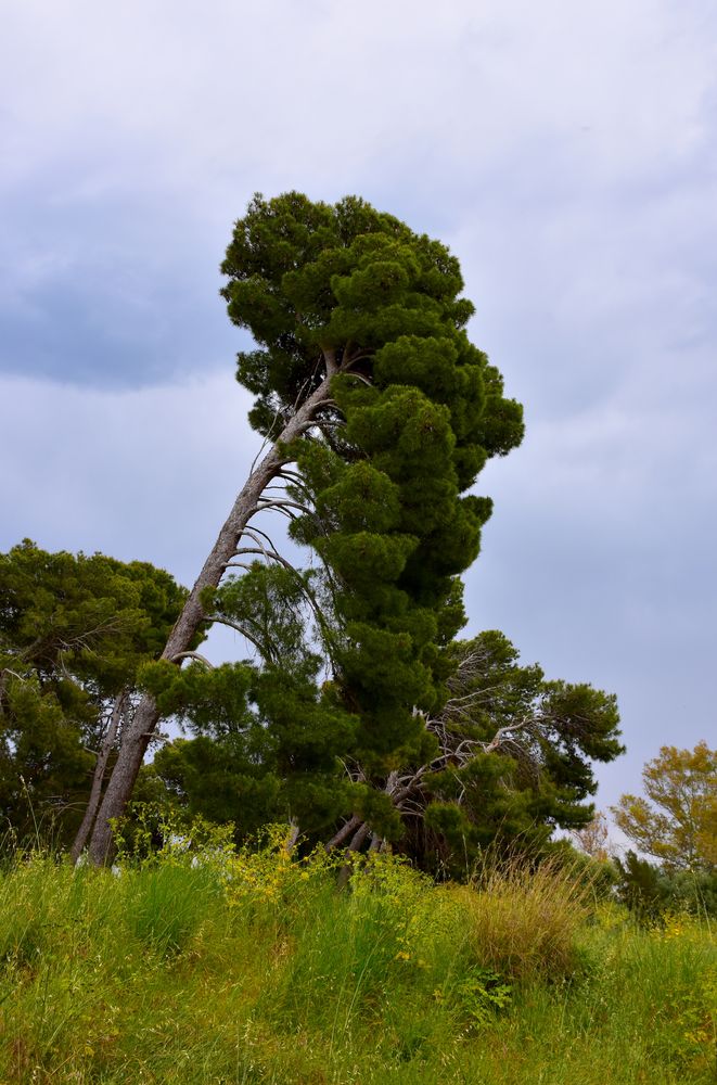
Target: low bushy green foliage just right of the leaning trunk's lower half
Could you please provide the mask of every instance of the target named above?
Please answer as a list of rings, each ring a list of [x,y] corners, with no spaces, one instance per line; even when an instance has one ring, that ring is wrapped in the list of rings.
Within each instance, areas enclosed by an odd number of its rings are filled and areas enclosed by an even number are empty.
[[[231,821],[238,841],[287,818],[312,839],[330,834],[351,804],[341,758],[357,720],[318,680],[305,588],[297,574],[255,563],[213,592],[213,612],[249,630],[259,649],[254,663],[142,668],[162,715],[179,718],[191,737],[158,751],[141,774],[139,799]]]

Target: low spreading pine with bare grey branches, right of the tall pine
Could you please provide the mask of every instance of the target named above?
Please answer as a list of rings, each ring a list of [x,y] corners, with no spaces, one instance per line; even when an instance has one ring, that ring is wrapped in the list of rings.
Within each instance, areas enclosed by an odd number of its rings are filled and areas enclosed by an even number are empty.
[[[488,844],[535,850],[555,827],[588,824],[591,762],[624,748],[614,695],[546,680],[537,664],[518,664],[503,634],[453,642],[448,654],[450,695],[423,717],[435,752],[390,771],[382,790],[400,818],[398,846],[426,869],[456,875]],[[350,819],[335,840],[360,840],[368,821]]]

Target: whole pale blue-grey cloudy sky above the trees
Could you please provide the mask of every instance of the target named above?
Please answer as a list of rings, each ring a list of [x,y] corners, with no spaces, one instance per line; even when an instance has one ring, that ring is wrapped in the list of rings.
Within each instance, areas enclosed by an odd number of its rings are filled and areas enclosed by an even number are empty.
[[[232,222],[357,193],[525,404],[470,630],[618,694],[600,805],[714,740],[716,76],[712,0],[0,0],[0,549],[190,584],[256,449]]]

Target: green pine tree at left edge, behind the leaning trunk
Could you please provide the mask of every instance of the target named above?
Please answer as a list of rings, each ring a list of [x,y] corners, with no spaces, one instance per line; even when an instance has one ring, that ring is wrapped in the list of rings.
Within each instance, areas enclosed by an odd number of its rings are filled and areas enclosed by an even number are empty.
[[[22,835],[50,813],[62,842],[84,805],[91,814],[89,781],[101,788],[138,667],[159,651],[184,595],[145,562],[49,553],[29,539],[0,554],[5,825]]]

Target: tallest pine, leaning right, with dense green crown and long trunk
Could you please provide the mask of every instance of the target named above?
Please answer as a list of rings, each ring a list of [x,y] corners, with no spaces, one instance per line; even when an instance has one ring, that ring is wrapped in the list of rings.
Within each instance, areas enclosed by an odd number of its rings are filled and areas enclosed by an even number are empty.
[[[422,760],[435,749],[422,712],[445,697],[446,648],[463,620],[454,577],[490,512],[487,499],[461,495],[489,456],[520,442],[521,408],[468,340],[473,306],[460,297],[457,259],[361,200],[256,196],[222,271],[230,318],[257,344],[240,354],[238,379],[256,396],[249,419],[268,450],[163,658],[182,662],[238,558],[261,551],[281,562],[252,523],[279,510],[327,563],[336,680],[323,703],[358,717],[355,752],[370,775]],[[289,488],[269,490],[279,484]],[[95,861],[111,854],[110,819],[131,794],[159,714],[148,691],[124,731]]]

